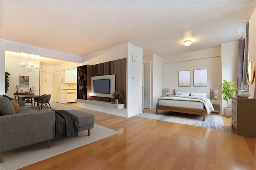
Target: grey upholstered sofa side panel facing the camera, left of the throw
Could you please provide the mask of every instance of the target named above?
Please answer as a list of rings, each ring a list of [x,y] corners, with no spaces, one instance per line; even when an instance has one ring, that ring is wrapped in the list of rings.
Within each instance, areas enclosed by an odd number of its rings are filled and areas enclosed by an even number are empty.
[[[55,138],[55,112],[17,113],[1,116],[0,152]]]

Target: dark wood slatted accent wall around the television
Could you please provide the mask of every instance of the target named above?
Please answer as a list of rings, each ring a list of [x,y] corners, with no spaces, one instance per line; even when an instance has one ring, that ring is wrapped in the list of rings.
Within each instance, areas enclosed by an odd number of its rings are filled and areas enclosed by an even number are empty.
[[[124,103],[124,108],[126,108],[126,58],[92,65],[92,76],[112,74],[116,75],[116,91],[123,93],[123,98],[119,99],[119,103]],[[114,99],[110,97],[94,96],[92,99],[97,101],[114,102]]]

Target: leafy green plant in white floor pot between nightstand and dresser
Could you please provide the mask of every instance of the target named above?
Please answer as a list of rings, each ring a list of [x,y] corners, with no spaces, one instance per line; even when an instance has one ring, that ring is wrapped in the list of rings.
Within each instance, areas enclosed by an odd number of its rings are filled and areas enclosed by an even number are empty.
[[[228,82],[226,80],[223,80],[224,82],[220,84],[220,89],[222,89],[221,94],[223,95],[223,99],[227,101],[228,104],[228,99],[232,99],[232,96],[236,96],[236,90],[237,86],[234,85],[235,82]],[[231,107],[224,107],[224,116],[225,117],[230,117],[232,113]]]

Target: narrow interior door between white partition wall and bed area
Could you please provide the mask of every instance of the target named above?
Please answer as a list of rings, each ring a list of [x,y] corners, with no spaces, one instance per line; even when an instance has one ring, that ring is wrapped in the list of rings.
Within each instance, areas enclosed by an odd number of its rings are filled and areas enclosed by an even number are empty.
[[[144,108],[150,109],[150,63],[143,65],[143,99],[144,99]]]

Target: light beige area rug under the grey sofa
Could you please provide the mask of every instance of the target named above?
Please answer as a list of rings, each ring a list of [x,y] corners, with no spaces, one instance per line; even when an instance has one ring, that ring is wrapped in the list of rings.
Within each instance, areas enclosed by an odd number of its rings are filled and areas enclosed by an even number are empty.
[[[4,162],[0,164],[0,169],[15,170],[22,168],[68,150],[78,148],[102,138],[106,138],[116,133],[118,133],[118,131],[94,124],[94,128],[90,130],[90,136],[88,136],[88,130],[84,130],[79,132],[78,137],[75,138],[51,140],[51,148],[47,148],[48,142],[45,141],[10,150],[8,152],[4,152]]]

